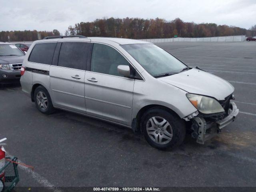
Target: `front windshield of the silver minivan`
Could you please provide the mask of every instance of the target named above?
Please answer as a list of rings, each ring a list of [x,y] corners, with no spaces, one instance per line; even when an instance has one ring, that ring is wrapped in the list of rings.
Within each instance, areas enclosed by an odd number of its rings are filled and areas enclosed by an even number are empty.
[[[154,44],[128,44],[122,45],[122,48],[152,76],[178,73],[186,67],[170,53]]]

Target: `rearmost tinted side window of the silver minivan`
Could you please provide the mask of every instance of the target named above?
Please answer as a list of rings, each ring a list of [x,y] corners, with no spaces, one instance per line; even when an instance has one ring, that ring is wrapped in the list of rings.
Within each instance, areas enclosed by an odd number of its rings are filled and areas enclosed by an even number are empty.
[[[28,61],[35,63],[52,64],[52,56],[56,43],[36,44],[28,58]]]

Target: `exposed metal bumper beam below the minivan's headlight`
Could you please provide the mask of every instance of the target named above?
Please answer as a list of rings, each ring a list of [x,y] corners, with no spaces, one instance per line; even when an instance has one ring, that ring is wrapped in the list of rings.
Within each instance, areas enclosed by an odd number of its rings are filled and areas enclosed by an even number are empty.
[[[205,141],[210,140],[216,136],[222,128],[234,121],[238,115],[238,108],[234,102],[230,102],[230,113],[229,115],[217,122],[206,122],[203,117],[193,118],[193,124],[191,126],[192,137],[196,138],[196,142],[204,144]]]

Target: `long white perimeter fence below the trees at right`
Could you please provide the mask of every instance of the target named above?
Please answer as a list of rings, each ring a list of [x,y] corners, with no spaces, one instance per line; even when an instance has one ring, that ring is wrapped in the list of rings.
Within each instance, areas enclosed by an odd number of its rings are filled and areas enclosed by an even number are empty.
[[[223,37],[177,37],[177,38],[161,38],[161,39],[139,39],[151,43],[161,42],[242,42],[245,41],[245,35],[223,36]]]

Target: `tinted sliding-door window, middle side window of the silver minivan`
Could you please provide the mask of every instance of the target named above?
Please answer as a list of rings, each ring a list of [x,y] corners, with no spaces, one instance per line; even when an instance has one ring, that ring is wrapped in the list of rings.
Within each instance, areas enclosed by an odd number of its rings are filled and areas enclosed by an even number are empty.
[[[90,44],[85,42],[63,42],[58,66],[85,70]]]

